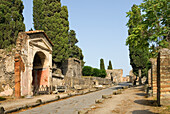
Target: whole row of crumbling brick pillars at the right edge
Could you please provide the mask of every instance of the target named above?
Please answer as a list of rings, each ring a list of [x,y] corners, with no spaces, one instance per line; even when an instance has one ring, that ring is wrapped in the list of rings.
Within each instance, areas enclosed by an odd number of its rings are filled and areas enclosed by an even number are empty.
[[[158,105],[170,105],[170,50],[161,49],[158,58],[151,59],[152,68],[148,71],[148,85]]]

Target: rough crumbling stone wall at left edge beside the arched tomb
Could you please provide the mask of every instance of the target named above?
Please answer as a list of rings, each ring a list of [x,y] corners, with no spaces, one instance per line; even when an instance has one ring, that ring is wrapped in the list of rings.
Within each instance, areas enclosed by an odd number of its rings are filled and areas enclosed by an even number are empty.
[[[14,89],[14,53],[15,49],[7,52],[0,49],[0,96],[12,95],[13,93],[5,92]]]

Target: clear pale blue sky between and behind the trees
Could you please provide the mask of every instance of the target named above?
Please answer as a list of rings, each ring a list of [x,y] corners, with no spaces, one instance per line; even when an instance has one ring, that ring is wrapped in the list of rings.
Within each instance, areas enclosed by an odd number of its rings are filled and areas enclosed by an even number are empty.
[[[26,31],[33,28],[33,0],[23,0]],[[99,68],[103,58],[105,68],[112,61],[114,69],[131,70],[126,12],[142,0],[61,0],[68,7],[70,29],[76,31],[78,46],[83,50],[85,65]]]

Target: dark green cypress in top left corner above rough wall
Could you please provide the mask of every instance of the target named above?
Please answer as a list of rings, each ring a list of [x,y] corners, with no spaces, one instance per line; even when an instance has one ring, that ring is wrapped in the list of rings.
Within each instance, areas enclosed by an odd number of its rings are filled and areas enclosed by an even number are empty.
[[[25,31],[21,0],[0,0],[0,49],[14,46],[19,32]]]

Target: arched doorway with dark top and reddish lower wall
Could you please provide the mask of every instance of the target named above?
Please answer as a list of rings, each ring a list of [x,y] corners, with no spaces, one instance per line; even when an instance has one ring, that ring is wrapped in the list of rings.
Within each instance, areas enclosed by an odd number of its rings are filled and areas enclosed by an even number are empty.
[[[33,60],[32,86],[33,94],[37,94],[41,87],[48,85],[48,69],[46,68],[46,55],[43,52],[37,52]]]

